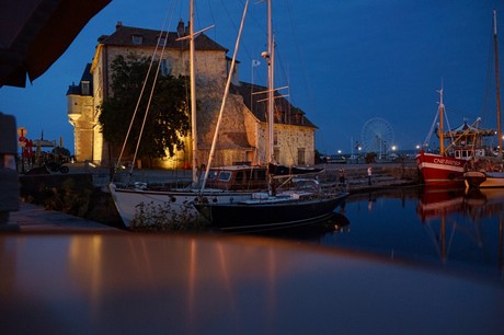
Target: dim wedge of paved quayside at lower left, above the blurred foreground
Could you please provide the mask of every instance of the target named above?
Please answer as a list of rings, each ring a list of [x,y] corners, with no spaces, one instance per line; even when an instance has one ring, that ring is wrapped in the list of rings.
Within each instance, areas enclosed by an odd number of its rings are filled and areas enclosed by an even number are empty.
[[[20,203],[19,211],[11,211],[9,222],[0,224],[0,232],[124,232],[95,221],[73,217],[42,206]]]

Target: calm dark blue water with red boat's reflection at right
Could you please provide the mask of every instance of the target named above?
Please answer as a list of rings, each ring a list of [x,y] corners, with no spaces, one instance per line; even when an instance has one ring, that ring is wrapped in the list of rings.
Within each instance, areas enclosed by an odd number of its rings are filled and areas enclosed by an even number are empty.
[[[504,284],[504,189],[417,187],[352,195],[335,230],[299,230],[275,239],[434,265]]]

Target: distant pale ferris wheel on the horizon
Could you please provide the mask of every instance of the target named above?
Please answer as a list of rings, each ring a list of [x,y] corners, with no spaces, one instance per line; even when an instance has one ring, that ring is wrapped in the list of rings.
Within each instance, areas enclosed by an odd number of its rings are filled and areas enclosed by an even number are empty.
[[[386,119],[374,117],[364,124],[360,141],[366,152],[375,152],[381,158],[388,153],[393,140],[392,126]]]

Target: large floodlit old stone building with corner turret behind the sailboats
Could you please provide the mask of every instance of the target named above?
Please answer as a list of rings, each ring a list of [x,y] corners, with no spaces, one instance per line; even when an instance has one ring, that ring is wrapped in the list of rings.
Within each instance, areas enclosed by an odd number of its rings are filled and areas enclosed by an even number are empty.
[[[111,94],[111,62],[115,57],[131,53],[139,57],[153,57],[156,46],[165,44],[162,56],[160,57],[161,48],[156,56],[161,59],[161,71],[174,76],[188,76],[188,42],[176,41],[187,33],[188,28],[182,21],[176,32],[170,32],[168,35],[159,31],[125,26],[119,22],[112,35],[99,38],[92,63],[85,66],[81,81],[70,85],[67,92],[68,117],[75,127],[75,154],[78,161],[88,160],[101,165],[117,161],[117,148],[108,148],[103,140],[96,109],[103,99]],[[206,164],[208,160],[230,69],[231,60],[227,53],[227,48],[205,34],[195,38],[198,164]],[[265,96],[252,94],[264,91],[264,86],[241,82],[237,65],[218,136],[215,165],[266,162],[266,103],[263,101]],[[316,129],[301,109],[277,95],[274,155],[278,163],[313,164]],[[190,138],[184,139],[184,150],[173,158],[159,160],[157,165],[165,169],[188,168],[192,162]]]

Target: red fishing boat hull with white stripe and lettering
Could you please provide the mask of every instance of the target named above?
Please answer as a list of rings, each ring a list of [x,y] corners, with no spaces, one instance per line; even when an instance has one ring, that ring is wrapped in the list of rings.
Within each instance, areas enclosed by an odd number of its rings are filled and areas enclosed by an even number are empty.
[[[465,160],[421,151],[416,164],[426,185],[463,186]]]

